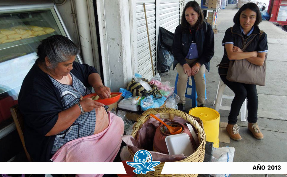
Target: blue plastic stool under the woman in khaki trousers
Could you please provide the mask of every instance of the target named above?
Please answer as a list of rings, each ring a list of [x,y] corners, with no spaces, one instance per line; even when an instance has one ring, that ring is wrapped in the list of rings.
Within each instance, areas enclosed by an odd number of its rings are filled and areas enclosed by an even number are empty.
[[[204,83],[205,83],[205,99],[207,99],[205,74],[203,74],[203,77],[204,77]],[[190,98],[192,100],[192,107],[194,108],[194,107],[197,107],[197,101],[196,101],[197,93],[196,93],[196,88],[195,88],[194,76],[191,76],[191,85],[189,85],[188,82],[189,82],[189,78],[187,79],[185,97]],[[177,94],[177,87],[176,87],[177,83],[178,83],[178,74],[176,75],[175,84],[174,84],[175,86],[174,93],[176,94]],[[191,95],[187,94],[188,88],[191,88]]]

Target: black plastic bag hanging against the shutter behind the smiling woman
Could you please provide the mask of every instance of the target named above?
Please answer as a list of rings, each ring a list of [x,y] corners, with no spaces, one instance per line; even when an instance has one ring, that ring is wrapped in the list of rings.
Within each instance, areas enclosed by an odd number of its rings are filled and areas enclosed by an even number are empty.
[[[172,42],[174,34],[165,28],[159,27],[157,47],[157,70],[164,73],[170,70],[173,63]]]

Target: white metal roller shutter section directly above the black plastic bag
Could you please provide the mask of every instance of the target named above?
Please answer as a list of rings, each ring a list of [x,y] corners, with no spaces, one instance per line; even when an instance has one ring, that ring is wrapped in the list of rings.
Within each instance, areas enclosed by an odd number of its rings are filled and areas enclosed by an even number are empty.
[[[159,26],[174,33],[179,25],[180,0],[159,1]]]

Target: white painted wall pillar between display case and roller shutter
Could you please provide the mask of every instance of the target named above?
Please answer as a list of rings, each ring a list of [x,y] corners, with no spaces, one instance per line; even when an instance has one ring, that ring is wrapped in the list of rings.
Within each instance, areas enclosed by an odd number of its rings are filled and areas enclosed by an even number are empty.
[[[132,78],[128,0],[99,0],[99,35],[105,85],[113,92]]]

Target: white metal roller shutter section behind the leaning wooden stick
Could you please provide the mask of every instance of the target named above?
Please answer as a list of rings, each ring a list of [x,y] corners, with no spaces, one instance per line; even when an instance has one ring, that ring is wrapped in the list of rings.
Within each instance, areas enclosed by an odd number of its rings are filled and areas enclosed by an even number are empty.
[[[138,73],[146,79],[153,76],[151,58],[149,54],[149,42],[146,32],[146,20],[144,17],[143,3],[146,6],[146,16],[149,27],[149,39],[154,70],[156,68],[156,2],[155,0],[136,1],[136,33],[137,33],[137,54]]]

